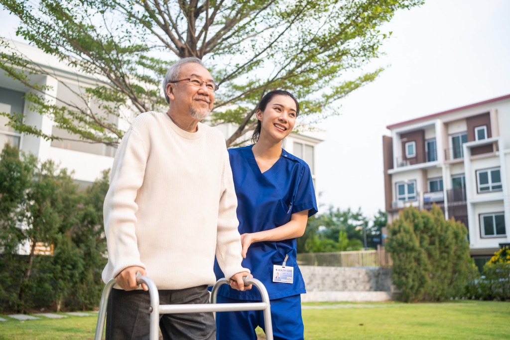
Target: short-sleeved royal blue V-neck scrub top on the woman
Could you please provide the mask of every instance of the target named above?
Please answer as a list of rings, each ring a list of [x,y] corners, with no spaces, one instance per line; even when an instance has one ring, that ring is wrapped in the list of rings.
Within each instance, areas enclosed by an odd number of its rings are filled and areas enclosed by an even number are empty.
[[[262,173],[251,151],[253,145],[228,150],[237,195],[239,233],[269,230],[290,221],[291,215],[308,210],[317,213],[317,202],[309,166],[282,149],[282,156]],[[273,265],[294,267],[293,283],[273,282]],[[248,248],[243,267],[266,287],[270,299],[306,293],[296,263],[296,239],[278,242],[256,242]],[[216,278],[224,277],[215,261]],[[239,300],[260,300],[257,288],[239,292],[224,284],[218,295]]]

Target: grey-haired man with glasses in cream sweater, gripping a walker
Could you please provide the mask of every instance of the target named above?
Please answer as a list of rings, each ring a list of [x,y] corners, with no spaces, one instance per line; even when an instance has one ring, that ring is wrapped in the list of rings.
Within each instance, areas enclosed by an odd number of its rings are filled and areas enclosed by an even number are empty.
[[[221,133],[200,123],[217,90],[197,58],[165,75],[166,113],[139,115],[115,155],[105,198],[108,264],[116,285],[108,303],[107,339],[149,333],[149,296],[136,272],[152,279],[161,304],[207,303],[214,257],[231,285],[245,290],[237,198]],[[165,339],[214,339],[212,313],[163,315]]]

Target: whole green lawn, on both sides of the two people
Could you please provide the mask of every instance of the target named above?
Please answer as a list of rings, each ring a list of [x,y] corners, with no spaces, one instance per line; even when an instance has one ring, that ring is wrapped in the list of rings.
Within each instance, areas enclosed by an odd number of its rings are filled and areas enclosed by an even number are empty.
[[[510,302],[304,303],[302,313],[306,340],[499,339],[508,338]],[[0,340],[93,339],[96,320],[10,319],[0,322]]]

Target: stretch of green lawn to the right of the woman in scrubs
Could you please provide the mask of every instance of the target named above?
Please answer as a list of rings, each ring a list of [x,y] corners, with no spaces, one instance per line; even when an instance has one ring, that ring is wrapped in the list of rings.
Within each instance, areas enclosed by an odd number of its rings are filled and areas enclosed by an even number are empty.
[[[304,304],[333,307],[331,304]],[[359,307],[358,307],[359,306]],[[304,338],[323,339],[502,339],[508,338],[510,303],[337,304],[303,309]]]

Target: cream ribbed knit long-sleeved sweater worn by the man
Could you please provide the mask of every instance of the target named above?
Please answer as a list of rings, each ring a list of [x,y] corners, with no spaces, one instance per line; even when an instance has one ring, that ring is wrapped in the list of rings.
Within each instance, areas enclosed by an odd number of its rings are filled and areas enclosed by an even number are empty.
[[[158,289],[215,282],[241,266],[237,198],[225,139],[199,123],[195,133],[166,113],[139,115],[117,149],[105,198],[108,264],[103,281],[145,268]]]

